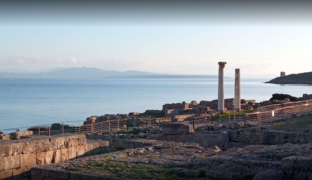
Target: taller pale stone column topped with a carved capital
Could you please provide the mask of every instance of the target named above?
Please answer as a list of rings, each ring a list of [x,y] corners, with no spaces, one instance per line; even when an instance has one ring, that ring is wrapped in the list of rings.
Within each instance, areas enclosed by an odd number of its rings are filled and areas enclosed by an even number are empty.
[[[218,82],[218,111],[224,112],[224,74],[223,69],[226,62],[218,62],[219,64],[219,82]]]

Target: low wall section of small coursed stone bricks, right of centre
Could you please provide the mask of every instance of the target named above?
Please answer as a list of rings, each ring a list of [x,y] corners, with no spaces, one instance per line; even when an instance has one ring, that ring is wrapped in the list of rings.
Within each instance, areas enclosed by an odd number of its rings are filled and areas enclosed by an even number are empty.
[[[263,144],[265,133],[259,127],[228,131],[231,142]]]

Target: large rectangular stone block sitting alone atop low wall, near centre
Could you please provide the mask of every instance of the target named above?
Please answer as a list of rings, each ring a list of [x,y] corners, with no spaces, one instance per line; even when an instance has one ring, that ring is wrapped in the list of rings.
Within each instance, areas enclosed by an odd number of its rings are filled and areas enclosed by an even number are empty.
[[[184,123],[164,123],[163,134],[165,135],[189,135],[193,134],[193,126]]]

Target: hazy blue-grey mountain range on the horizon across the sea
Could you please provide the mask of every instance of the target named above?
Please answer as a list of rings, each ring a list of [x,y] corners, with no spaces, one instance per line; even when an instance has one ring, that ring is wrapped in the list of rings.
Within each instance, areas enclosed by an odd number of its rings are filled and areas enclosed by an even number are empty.
[[[120,72],[82,67],[49,69],[40,73],[2,72],[0,78],[217,78],[217,76],[166,75],[144,71]]]

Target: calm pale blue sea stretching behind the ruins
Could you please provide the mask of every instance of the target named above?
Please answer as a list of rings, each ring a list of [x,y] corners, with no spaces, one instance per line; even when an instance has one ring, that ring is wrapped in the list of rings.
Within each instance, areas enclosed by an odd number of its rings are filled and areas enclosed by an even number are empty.
[[[312,93],[309,85],[262,83],[268,80],[242,79],[241,98],[260,102],[274,93]],[[225,97],[233,96],[234,79],[225,79]],[[0,131],[213,99],[217,79],[0,79]]]

